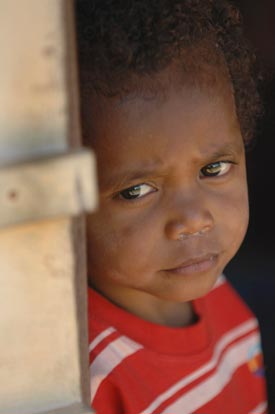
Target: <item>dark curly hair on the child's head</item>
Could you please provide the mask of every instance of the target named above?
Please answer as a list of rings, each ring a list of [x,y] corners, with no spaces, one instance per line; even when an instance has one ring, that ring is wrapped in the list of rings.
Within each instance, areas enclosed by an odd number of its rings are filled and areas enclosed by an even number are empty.
[[[251,142],[261,113],[255,57],[226,0],[75,0],[75,13],[83,93],[158,93],[156,81],[172,64],[185,81],[209,85],[222,71],[244,142]]]

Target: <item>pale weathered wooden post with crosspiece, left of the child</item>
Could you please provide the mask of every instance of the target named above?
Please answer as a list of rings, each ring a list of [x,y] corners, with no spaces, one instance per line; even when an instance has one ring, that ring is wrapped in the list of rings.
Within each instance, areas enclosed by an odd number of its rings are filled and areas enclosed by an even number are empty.
[[[0,414],[90,413],[71,0],[0,0]]]

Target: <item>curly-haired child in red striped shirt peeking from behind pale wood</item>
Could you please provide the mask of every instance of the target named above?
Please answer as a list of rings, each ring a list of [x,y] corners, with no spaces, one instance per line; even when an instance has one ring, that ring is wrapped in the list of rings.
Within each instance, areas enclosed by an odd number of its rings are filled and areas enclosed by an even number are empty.
[[[266,413],[258,325],[222,272],[247,230],[245,146],[259,102],[223,0],[76,4],[92,407]]]

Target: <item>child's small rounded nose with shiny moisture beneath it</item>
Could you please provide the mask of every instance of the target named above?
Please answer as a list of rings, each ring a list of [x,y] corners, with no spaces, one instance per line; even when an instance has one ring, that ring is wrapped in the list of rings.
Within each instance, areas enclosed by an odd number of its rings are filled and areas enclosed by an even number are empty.
[[[200,200],[182,203],[174,216],[166,223],[166,237],[171,240],[183,240],[202,235],[213,228],[214,218]]]

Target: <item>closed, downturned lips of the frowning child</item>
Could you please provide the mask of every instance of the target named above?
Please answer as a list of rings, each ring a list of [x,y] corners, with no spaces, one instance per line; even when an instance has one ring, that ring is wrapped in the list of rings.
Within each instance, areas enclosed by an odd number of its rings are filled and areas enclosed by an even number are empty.
[[[214,267],[218,260],[217,253],[209,253],[203,256],[198,256],[185,260],[171,269],[165,269],[165,272],[187,275],[191,273],[201,273],[210,270]]]

